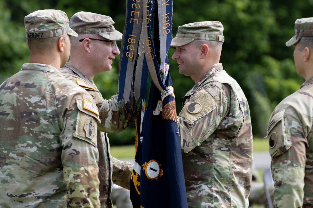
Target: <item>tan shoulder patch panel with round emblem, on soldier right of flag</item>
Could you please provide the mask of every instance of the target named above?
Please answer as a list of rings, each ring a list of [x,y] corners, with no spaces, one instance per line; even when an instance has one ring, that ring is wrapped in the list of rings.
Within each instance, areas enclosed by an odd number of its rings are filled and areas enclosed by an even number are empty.
[[[193,124],[216,107],[217,103],[212,95],[208,91],[201,89],[183,107],[182,119],[189,124]]]

